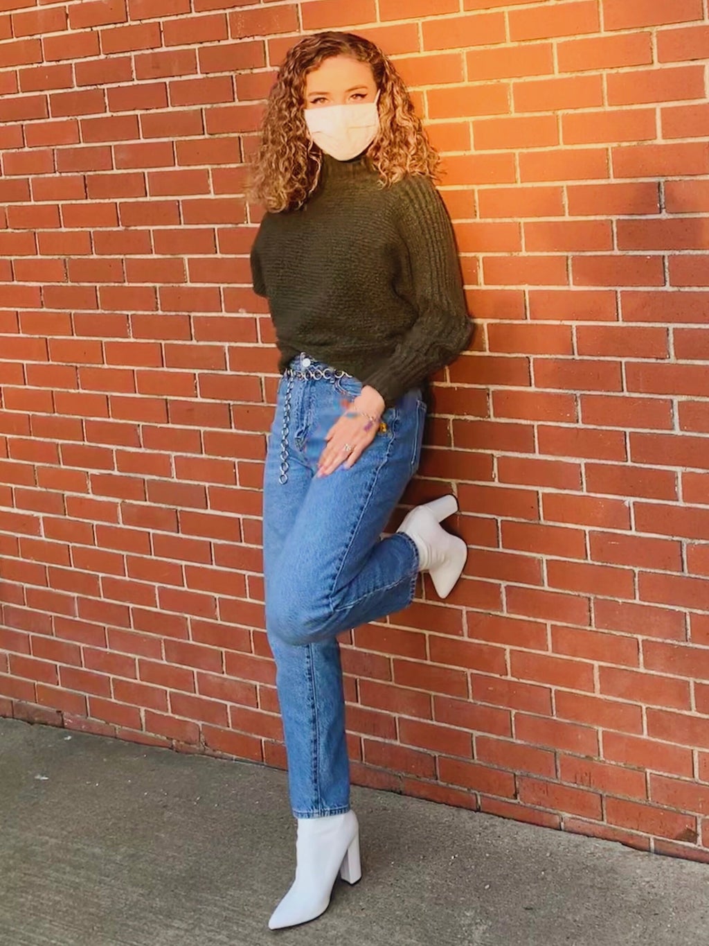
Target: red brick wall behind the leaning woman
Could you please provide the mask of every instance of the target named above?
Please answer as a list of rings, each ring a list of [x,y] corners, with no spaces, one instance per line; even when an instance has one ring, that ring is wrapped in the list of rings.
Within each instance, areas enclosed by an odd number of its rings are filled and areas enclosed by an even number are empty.
[[[706,0],[0,0],[0,711],[285,764],[242,162],[328,26],[414,88],[478,321],[407,496],[469,566],[343,636],[354,779],[709,859]]]

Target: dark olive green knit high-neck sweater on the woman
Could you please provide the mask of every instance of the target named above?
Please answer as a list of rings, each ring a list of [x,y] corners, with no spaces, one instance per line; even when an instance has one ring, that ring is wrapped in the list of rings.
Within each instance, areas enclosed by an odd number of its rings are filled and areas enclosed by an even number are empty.
[[[361,157],[324,155],[310,200],[263,219],[251,273],[268,297],[282,372],[306,352],[388,405],[470,340],[453,228],[421,175],[382,188]]]

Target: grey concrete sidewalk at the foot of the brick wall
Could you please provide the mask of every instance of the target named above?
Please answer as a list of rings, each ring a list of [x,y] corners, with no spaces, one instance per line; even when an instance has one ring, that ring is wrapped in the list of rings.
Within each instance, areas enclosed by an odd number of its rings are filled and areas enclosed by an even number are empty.
[[[709,943],[709,867],[353,788],[363,877],[268,930],[285,773],[0,719],[2,946]]]

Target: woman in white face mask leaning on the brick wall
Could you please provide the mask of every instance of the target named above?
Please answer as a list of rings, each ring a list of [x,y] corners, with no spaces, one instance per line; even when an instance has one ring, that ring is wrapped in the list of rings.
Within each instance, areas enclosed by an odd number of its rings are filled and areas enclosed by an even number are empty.
[[[264,482],[268,641],[276,661],[296,874],[271,929],[327,908],[337,872],[361,876],[337,634],[441,597],[465,543],[439,524],[453,496],[382,539],[421,453],[422,386],[470,339],[438,164],[406,87],[349,33],[303,39],[268,98],[251,251],[280,351]]]

